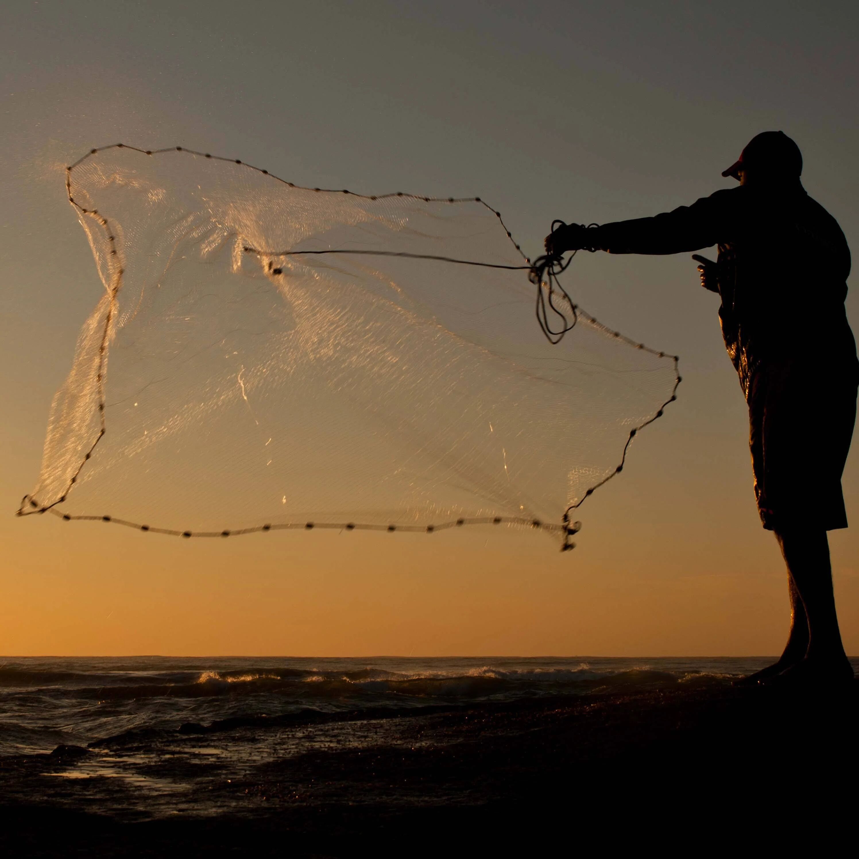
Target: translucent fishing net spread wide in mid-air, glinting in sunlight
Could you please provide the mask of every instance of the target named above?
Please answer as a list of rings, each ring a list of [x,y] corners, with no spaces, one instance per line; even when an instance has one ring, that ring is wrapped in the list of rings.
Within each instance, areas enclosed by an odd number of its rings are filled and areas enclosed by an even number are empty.
[[[518,525],[569,547],[674,397],[674,356],[563,293],[578,324],[544,336],[549,283],[478,198],[122,145],[67,176],[105,294],[21,514],[183,536]]]

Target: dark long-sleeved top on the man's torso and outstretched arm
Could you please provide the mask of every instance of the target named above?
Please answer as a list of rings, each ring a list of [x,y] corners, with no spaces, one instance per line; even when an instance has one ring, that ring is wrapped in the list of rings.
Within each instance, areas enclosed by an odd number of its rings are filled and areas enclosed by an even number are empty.
[[[718,245],[722,336],[746,395],[766,361],[820,358],[833,373],[859,374],[844,312],[850,248],[835,218],[798,181],[717,191],[655,217],[603,224],[592,236],[609,253]]]

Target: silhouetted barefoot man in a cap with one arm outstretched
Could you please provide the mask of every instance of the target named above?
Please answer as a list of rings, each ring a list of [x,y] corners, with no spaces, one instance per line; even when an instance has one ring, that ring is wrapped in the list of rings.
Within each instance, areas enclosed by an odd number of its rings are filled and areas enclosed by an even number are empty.
[[[655,217],[562,225],[546,252],[697,254],[749,410],[758,512],[788,568],[790,634],[781,658],[748,679],[840,683],[844,654],[826,532],[847,527],[841,475],[856,421],[859,362],[844,311],[850,249],[802,187],[802,155],[783,131],[753,137],[727,188]]]

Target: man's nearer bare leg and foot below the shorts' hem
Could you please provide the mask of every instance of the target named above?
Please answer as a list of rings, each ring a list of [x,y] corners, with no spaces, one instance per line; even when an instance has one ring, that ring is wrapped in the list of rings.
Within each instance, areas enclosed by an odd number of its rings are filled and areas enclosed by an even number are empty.
[[[819,679],[852,679],[853,668],[838,630],[835,612],[835,594],[832,591],[832,566],[829,560],[829,543],[823,529],[802,531],[786,530],[776,533],[784,561],[793,584],[791,608],[794,618],[799,606],[794,602],[794,591],[799,597],[807,624],[807,649],[801,661],[787,667],[783,677],[812,675]],[[794,627],[791,627],[793,632]],[[798,628],[797,632],[801,630]],[[796,646],[801,638],[796,640]],[[788,648],[791,649],[791,641]],[[795,651],[791,653],[791,658]]]

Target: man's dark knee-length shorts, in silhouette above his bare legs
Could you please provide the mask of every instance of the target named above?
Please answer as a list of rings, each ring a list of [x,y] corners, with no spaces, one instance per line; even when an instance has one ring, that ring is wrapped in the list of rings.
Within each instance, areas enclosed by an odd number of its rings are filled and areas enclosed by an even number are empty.
[[[784,360],[752,375],[749,447],[767,530],[847,527],[841,475],[856,423],[855,361],[827,368]]]

